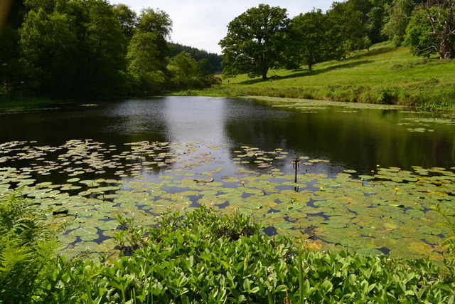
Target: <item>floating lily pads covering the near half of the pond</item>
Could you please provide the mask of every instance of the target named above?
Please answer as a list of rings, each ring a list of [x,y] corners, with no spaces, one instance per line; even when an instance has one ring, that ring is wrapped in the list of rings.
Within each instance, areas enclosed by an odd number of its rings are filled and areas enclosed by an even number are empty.
[[[449,231],[436,204],[454,210],[455,167],[345,170],[335,177],[287,172],[287,152],[202,143],[134,142],[117,147],[70,140],[0,145],[0,196],[34,199],[48,221],[63,224],[65,254],[112,252],[122,229],[116,216],[154,226],[169,211],[210,206],[222,214],[252,214],[268,234],[307,239],[312,248],[350,248],[400,258],[441,258]],[[223,164],[232,155],[234,174]],[[297,159],[300,164],[326,162]]]

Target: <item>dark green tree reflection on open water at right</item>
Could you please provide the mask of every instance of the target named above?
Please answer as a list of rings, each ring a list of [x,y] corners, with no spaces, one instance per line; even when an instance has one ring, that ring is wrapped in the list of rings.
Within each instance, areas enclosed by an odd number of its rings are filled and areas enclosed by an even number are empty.
[[[287,112],[287,111],[285,111]],[[382,167],[451,167],[454,163],[453,126],[433,125],[434,132],[409,132],[397,125],[410,113],[398,110],[326,108],[317,113],[293,112],[287,119],[240,120],[227,123],[230,137],[250,145],[330,159],[332,165],[365,170]]]

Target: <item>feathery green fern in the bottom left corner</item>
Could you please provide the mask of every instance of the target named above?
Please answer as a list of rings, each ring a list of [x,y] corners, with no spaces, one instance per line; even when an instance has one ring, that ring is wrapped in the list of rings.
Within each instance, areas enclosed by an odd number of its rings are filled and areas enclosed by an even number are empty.
[[[42,217],[19,192],[0,197],[0,303],[28,302],[51,271],[55,235],[42,226]]]

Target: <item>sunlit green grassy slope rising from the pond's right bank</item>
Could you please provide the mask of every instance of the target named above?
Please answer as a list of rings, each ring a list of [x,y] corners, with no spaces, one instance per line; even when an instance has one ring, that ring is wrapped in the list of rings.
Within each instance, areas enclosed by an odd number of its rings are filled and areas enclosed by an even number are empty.
[[[247,75],[223,80],[183,95],[270,96],[360,103],[412,105],[455,110],[455,61],[418,58],[408,48],[380,43],[345,61],[328,61],[314,70],[272,70],[269,80]]]

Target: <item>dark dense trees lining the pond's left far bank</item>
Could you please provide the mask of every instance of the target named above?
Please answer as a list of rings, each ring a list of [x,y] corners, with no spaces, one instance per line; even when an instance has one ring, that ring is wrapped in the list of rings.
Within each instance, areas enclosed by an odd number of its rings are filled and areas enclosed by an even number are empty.
[[[164,11],[105,0],[15,1],[0,32],[0,97],[120,98],[217,82],[213,56],[171,52],[171,27]]]

